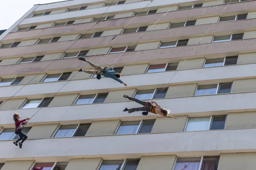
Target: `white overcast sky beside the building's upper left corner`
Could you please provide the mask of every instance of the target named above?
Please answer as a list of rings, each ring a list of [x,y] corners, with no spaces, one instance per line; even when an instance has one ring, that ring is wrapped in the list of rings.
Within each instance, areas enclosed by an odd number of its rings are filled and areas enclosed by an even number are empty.
[[[0,0],[0,30],[8,29],[35,4],[61,0]]]

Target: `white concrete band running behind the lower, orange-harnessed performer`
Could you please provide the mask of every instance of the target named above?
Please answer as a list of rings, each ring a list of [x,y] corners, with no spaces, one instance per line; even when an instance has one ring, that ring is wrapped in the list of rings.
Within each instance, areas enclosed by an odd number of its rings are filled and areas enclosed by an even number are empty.
[[[120,94],[123,95],[123,94]],[[191,96],[169,99],[157,99],[157,103],[163,108],[169,108],[172,114],[201,116],[202,113],[218,112],[227,114],[229,112],[256,111],[255,102],[252,100],[256,92],[220,94],[209,96]],[[232,104],[232,105],[231,105]],[[140,112],[124,113],[124,108],[139,107],[141,105],[135,102],[113,102],[88,105],[70,105],[60,107],[33,108],[0,111],[0,125],[13,125],[13,119],[10,117],[14,112],[20,113],[22,117],[33,118],[29,121],[32,124],[55,123],[62,121],[73,121],[75,124],[80,120],[106,120],[106,119],[125,119],[133,117],[141,118]],[[211,114],[210,114],[211,115]],[[149,113],[148,119],[154,119],[157,115]],[[141,118],[143,119],[143,118]],[[75,121],[75,122],[74,122]]]

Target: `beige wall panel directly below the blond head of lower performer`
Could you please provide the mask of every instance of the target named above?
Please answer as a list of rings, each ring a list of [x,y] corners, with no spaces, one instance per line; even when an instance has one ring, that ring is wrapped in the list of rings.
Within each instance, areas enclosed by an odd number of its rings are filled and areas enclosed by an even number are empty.
[[[176,116],[177,119],[157,117],[152,133],[182,132],[188,116]]]

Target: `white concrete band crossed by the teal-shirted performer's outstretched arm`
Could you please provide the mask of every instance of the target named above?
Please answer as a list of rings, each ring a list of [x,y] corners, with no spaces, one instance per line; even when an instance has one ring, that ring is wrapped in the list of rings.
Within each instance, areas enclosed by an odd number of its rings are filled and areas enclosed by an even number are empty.
[[[239,72],[237,72],[239,70]],[[148,88],[163,88],[166,85],[177,84],[204,84],[204,83],[219,83],[230,81],[235,79],[253,78],[256,72],[256,64],[244,64],[244,65],[230,65],[224,67],[212,67],[212,68],[198,68],[188,69],[180,71],[166,71],[158,73],[148,74],[135,74],[122,77],[122,81],[128,84],[129,88],[148,89]],[[176,75],[174,76],[174,74]],[[211,77],[209,77],[211,75]],[[174,77],[173,77],[174,76]],[[157,81],[148,81],[151,77],[157,77]],[[173,77],[173,78],[172,78]],[[172,78],[172,81],[169,80]],[[137,81],[138,80],[138,81]],[[140,80],[140,81],[139,81]],[[58,92],[59,94],[79,93],[83,91],[85,94],[103,93],[104,89],[109,91],[120,90],[123,85],[113,79],[102,78],[98,79],[78,79],[78,80],[66,80],[56,82],[43,82],[34,83],[28,85],[12,85],[0,87],[1,96],[0,99],[8,99],[14,95],[15,98],[21,96],[51,96]],[[67,83],[68,82],[68,83]],[[161,86],[162,85],[162,86]],[[24,87],[25,86],[25,87]],[[169,86],[167,86],[168,88]],[[19,92],[17,92],[19,91]],[[243,92],[243,91],[238,91]],[[17,93],[17,94],[16,94]]]

